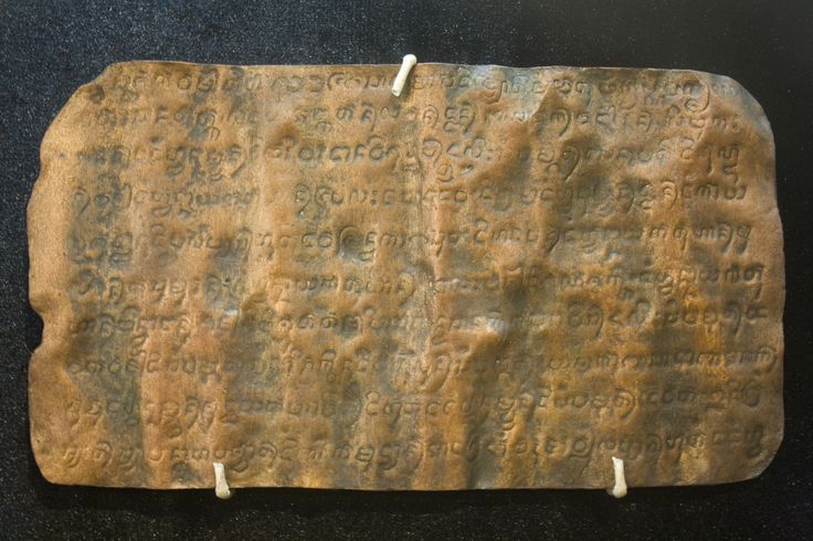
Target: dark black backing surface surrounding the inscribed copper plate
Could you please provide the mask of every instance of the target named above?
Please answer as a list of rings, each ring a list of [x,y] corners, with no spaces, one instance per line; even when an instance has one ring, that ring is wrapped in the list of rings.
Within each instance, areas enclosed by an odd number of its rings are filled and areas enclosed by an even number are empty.
[[[0,0],[0,537],[683,538],[813,532],[811,185],[813,2],[557,0],[398,3]],[[117,61],[690,68],[729,75],[777,142],[785,234],[785,437],[758,479],[603,491],[212,491],[60,487],[28,432],[27,365],[42,323],[28,304],[25,205],[39,146],[82,84]],[[805,535],[806,534],[806,535]]]

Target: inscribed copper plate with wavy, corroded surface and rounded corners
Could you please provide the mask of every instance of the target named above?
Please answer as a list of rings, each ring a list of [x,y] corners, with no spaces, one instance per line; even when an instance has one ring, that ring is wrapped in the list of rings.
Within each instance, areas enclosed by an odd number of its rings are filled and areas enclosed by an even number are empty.
[[[110,66],[42,145],[31,438],[54,482],[606,487],[782,438],[773,140],[736,82]]]

